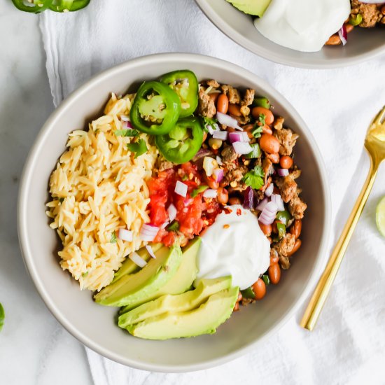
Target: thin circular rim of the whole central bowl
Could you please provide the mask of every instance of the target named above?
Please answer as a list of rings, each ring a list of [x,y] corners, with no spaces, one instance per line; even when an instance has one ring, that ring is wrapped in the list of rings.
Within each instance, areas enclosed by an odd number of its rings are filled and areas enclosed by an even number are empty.
[[[50,295],[45,291],[43,280],[38,274],[37,269],[34,266],[34,256],[31,253],[31,246],[29,244],[28,228],[27,221],[25,220],[27,201],[28,201],[28,186],[32,180],[32,172],[34,171],[34,164],[39,154],[41,153],[42,143],[45,136],[47,136],[53,127],[55,127],[55,123],[57,120],[62,118],[62,115],[66,113],[67,106],[70,106],[73,103],[76,103],[77,99],[82,97],[83,94],[90,92],[97,83],[102,82],[106,78],[110,76],[119,76],[120,73],[130,71],[131,68],[137,66],[146,66],[148,64],[154,65],[157,62],[190,62],[192,64],[211,64],[213,66],[220,66],[221,68],[225,68],[226,71],[241,73],[244,76],[248,76],[251,78],[253,82],[258,83],[260,87],[264,90],[272,94],[277,103],[285,108],[290,110],[290,113],[295,120],[295,123],[301,127],[304,131],[304,134],[307,137],[307,141],[309,141],[309,146],[311,151],[314,153],[314,158],[316,160],[316,164],[318,167],[318,171],[321,176],[322,181],[322,193],[325,200],[325,222],[323,225],[323,232],[321,237],[320,248],[318,249],[318,255],[316,257],[316,262],[311,270],[311,274],[309,275],[305,290],[299,295],[293,307],[291,307],[286,314],[283,315],[279,323],[276,324],[272,330],[269,330],[264,335],[262,335],[259,339],[254,340],[245,346],[233,351],[232,353],[227,353],[220,358],[214,358],[212,360],[207,360],[202,363],[195,363],[193,365],[165,365],[165,364],[148,364],[142,363],[140,360],[134,360],[132,358],[122,357],[118,353],[114,353],[109,349],[104,348],[97,342],[92,341],[83,335],[79,330],[77,330],[71,323],[66,319],[66,316],[62,314],[62,311],[59,310],[57,305],[52,302],[50,299]],[[141,370],[148,370],[152,372],[191,372],[195,370],[204,370],[210,367],[214,367],[217,365],[221,365],[223,363],[227,363],[230,360],[238,358],[246,354],[248,351],[251,351],[255,348],[257,344],[260,344],[262,341],[267,339],[274,332],[278,331],[297,311],[300,305],[304,302],[304,299],[309,294],[311,288],[315,286],[316,280],[318,279],[318,273],[320,272],[321,267],[323,266],[323,262],[325,260],[326,248],[328,246],[328,239],[330,236],[330,226],[331,226],[331,204],[330,204],[330,189],[327,183],[327,177],[325,172],[325,165],[323,163],[323,158],[321,156],[321,151],[318,149],[316,141],[307,128],[306,123],[300,117],[299,113],[293,108],[293,106],[288,102],[286,98],[284,98],[278,91],[276,91],[269,83],[267,83],[262,78],[259,78],[254,73],[247,71],[241,66],[237,66],[230,62],[226,62],[223,59],[218,59],[216,57],[209,57],[205,55],[197,55],[190,53],[160,53],[154,55],[146,55],[143,57],[138,57],[136,59],[129,60],[127,62],[123,62],[122,64],[118,64],[117,66],[113,66],[106,71],[102,71],[87,80],[86,83],[81,85],[77,90],[73,91],[64,101],[52,112],[51,116],[45,122],[43,127],[41,128],[38,136],[36,137],[31,150],[29,151],[29,155],[25,162],[25,167],[22,172],[22,177],[20,181],[20,190],[18,195],[18,237],[20,243],[20,250],[22,252],[23,260],[25,262],[25,266],[27,267],[27,271],[31,276],[32,281],[38,291],[39,295],[43,299],[45,306],[48,307],[53,316],[59,321],[59,323],[69,332],[73,337],[76,337],[82,344],[89,347],[93,351],[101,354],[102,356],[114,360],[123,365],[127,365],[130,367],[134,367]]]

